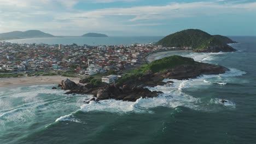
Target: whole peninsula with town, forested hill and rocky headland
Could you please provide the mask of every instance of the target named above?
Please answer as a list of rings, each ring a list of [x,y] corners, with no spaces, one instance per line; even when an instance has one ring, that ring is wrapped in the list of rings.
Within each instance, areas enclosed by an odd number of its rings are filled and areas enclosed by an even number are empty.
[[[145,88],[147,86],[172,85],[172,81],[162,82],[164,79],[193,79],[200,75],[223,74],[229,70],[181,56],[165,57],[148,63],[147,57],[152,53],[170,50],[236,51],[229,43],[236,41],[222,35],[210,35],[199,29],[187,29],[168,35],[155,44],[145,45],[78,46],[1,42],[3,60],[0,70],[1,77],[79,77],[79,82],[65,78],[59,87],[69,90],[66,94],[92,94],[94,98],[91,100],[136,101],[139,98],[157,97],[162,93],[151,92]],[[85,103],[88,102],[85,100]]]

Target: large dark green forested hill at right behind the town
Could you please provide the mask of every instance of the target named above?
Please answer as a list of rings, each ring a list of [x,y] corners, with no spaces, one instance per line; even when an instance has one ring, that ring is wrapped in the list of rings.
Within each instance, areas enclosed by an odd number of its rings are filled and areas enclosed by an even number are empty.
[[[200,29],[187,29],[167,35],[156,43],[167,47],[192,47],[195,52],[229,52],[236,49],[227,45],[236,43],[222,35],[211,35]]]

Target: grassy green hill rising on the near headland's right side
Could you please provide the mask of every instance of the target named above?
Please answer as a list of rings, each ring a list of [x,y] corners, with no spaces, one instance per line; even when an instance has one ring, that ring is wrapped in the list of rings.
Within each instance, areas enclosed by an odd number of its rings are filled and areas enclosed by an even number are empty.
[[[139,69],[127,71],[118,82],[122,85],[154,87],[160,85],[163,79],[192,79],[200,75],[223,74],[228,70],[220,65],[200,63],[193,58],[174,55],[155,60]]]

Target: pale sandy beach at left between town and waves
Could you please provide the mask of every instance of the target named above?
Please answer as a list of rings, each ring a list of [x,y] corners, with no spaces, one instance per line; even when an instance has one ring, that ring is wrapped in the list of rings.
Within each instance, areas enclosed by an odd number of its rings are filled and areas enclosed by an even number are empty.
[[[61,80],[65,79],[72,80],[76,83],[80,80],[80,78],[77,77],[63,77],[60,75],[10,77],[0,78],[0,87],[59,84],[61,83]]]

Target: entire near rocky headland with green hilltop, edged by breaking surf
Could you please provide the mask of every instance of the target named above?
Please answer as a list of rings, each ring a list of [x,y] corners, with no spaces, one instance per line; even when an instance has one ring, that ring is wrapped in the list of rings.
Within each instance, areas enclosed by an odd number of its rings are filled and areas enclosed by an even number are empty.
[[[164,79],[192,79],[200,75],[223,74],[228,70],[219,65],[195,62],[192,58],[170,56],[133,69],[116,83],[101,83],[93,77],[86,77],[78,84],[67,79],[59,87],[69,90],[66,94],[92,94],[94,98],[91,100],[136,101],[139,98],[157,97],[162,93],[149,91],[146,86],[172,85],[172,81],[162,82]]]

